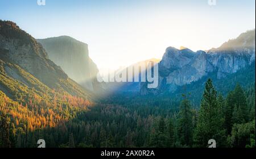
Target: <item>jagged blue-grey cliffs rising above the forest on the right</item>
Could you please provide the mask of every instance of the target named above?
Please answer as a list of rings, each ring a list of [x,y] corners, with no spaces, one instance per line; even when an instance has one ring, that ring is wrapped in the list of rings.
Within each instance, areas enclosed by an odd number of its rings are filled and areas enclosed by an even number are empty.
[[[193,52],[187,48],[169,47],[159,63],[159,85],[156,89],[147,89],[142,84],[141,94],[159,94],[175,91],[182,86],[217,72],[217,78],[236,73],[237,70],[255,61],[255,30],[241,34],[237,39],[229,40],[220,48],[209,51]]]

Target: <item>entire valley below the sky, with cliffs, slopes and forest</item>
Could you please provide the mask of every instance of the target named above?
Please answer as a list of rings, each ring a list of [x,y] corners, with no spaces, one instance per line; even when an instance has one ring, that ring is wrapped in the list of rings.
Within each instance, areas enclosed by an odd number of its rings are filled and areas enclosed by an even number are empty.
[[[87,44],[0,20],[0,147],[255,147],[255,30],[209,51],[168,47],[156,61],[153,89],[134,80],[145,69],[101,83]]]

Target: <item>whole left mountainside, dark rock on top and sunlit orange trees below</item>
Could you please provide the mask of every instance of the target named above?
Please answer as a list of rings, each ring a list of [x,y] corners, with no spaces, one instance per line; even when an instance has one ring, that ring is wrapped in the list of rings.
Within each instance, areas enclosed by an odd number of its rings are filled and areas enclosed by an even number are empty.
[[[19,133],[55,127],[93,105],[94,95],[49,60],[34,37],[0,20],[0,116]]]

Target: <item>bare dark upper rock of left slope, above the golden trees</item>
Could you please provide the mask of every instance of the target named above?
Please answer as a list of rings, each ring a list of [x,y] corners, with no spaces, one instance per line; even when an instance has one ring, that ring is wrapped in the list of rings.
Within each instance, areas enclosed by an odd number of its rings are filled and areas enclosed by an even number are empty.
[[[68,78],[59,66],[47,58],[42,45],[13,22],[0,20],[0,58],[18,64],[51,87],[59,78]]]

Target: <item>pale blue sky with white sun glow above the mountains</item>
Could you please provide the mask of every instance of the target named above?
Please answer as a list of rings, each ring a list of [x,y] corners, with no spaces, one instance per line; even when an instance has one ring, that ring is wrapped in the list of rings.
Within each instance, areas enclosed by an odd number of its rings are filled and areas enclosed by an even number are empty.
[[[71,36],[100,70],[118,69],[161,59],[170,46],[219,47],[255,28],[255,0],[0,0],[0,19],[36,39]]]

